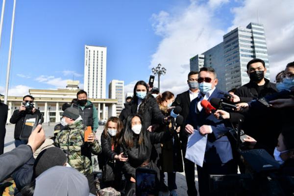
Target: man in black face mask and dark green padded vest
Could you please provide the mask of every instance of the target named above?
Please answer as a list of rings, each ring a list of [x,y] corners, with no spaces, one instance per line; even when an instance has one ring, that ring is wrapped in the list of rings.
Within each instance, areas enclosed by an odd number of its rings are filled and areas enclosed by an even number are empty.
[[[77,103],[73,103],[73,108],[78,109],[83,119],[83,124],[91,126],[94,132],[98,129],[98,112],[94,104],[87,100],[87,92],[80,90],[76,93]],[[104,117],[104,116],[103,116]]]

